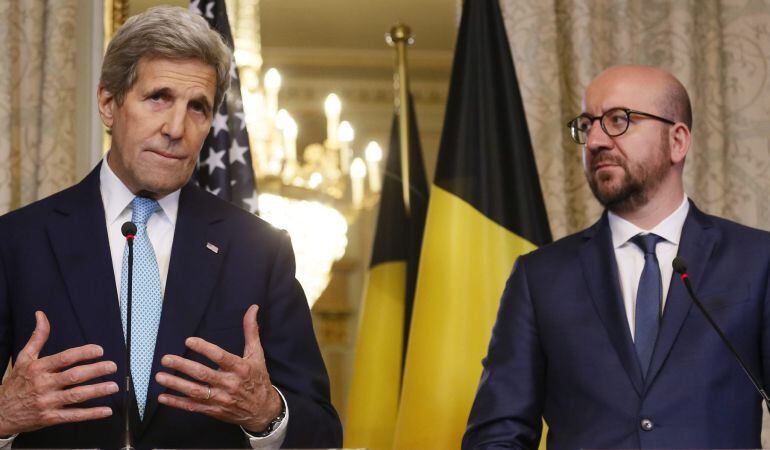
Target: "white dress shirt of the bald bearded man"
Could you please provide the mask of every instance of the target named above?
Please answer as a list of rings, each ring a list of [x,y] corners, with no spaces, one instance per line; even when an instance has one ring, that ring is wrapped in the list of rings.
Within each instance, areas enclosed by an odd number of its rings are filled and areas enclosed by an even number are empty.
[[[671,276],[674,273],[671,263],[679,250],[682,227],[684,227],[684,221],[689,210],[690,202],[685,196],[676,211],[650,230],[639,228],[612,212],[607,214],[612,234],[612,246],[615,249],[615,261],[618,264],[620,292],[623,295],[623,305],[626,308],[626,318],[631,329],[632,339],[636,332],[636,290],[639,288],[639,279],[642,277],[642,269],[644,269],[644,252],[630,239],[637,234],[648,233],[654,233],[663,238],[655,248],[655,255],[658,257],[663,287],[661,308],[665,310],[666,297],[671,286]]]

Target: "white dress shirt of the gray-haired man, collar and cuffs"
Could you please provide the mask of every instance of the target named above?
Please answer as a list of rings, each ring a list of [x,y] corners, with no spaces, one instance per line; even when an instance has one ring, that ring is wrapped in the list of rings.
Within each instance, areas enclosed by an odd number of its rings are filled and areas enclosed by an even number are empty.
[[[107,158],[102,160],[99,182],[102,204],[104,205],[104,219],[107,223],[107,236],[110,241],[112,270],[115,273],[115,288],[116,292],[119,293],[123,267],[123,251],[126,247],[126,238],[123,237],[120,228],[123,226],[123,223],[131,220],[133,212],[131,202],[135,195],[115,175],[115,172],[107,164]],[[162,295],[165,295],[166,292],[168,266],[171,260],[171,244],[174,241],[174,229],[179,210],[179,193],[180,190],[176,190],[158,200],[161,211],[156,212],[147,220],[147,236],[150,238],[150,243],[152,243],[152,248],[155,251],[155,258],[158,260]],[[278,391],[278,395],[280,395],[281,401],[286,408],[286,415],[278,427],[268,436],[255,437],[247,433],[246,430],[243,430],[249,438],[252,448],[279,448],[286,437],[286,428],[289,423],[289,405],[286,403],[286,399],[281,391],[278,388],[275,388],[275,390]],[[15,437],[0,439],[0,450],[11,448]]]

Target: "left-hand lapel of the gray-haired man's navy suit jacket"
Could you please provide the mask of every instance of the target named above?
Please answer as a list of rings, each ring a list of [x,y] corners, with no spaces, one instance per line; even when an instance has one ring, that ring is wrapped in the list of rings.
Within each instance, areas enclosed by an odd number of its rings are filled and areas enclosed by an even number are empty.
[[[97,165],[69,195],[62,196],[48,223],[48,236],[85,341],[101,345],[103,360],[114,361],[118,366],[117,373],[102,380],[123,386],[126,345],[99,190],[99,169]],[[56,317],[49,319],[55,327]],[[111,396],[116,414],[121,414],[123,397],[122,389]]]

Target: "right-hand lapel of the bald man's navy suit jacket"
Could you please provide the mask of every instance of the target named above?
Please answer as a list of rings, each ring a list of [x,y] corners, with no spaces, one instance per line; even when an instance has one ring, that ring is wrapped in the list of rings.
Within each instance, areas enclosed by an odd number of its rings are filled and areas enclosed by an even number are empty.
[[[690,211],[682,228],[682,237],[679,240],[677,254],[687,261],[688,273],[696,291],[697,286],[703,280],[708,260],[718,240],[717,229],[712,226],[711,220],[700,212],[694,203],[690,202]],[[671,352],[671,347],[674,345],[674,341],[692,307],[692,300],[688,296],[684,284],[678,278],[679,276],[674,274],[671,279],[660,332],[650,361],[648,388]]]

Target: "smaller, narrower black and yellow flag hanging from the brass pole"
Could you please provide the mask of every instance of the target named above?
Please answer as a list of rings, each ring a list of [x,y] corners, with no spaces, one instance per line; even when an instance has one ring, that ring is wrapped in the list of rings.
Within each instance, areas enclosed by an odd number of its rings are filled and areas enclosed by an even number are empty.
[[[409,104],[409,211],[404,206],[398,117],[394,116],[368,283],[359,322],[345,447],[389,450],[408,341],[428,182]]]

